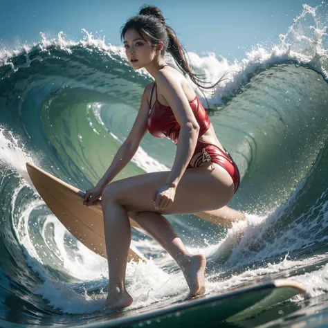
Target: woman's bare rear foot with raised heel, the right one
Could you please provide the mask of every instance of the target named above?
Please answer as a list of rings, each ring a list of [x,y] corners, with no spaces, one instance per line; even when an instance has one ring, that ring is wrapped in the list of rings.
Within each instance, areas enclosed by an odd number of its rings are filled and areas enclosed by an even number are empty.
[[[204,255],[193,255],[188,262],[183,264],[182,271],[190,289],[187,298],[193,298],[205,293],[205,267],[206,258]]]

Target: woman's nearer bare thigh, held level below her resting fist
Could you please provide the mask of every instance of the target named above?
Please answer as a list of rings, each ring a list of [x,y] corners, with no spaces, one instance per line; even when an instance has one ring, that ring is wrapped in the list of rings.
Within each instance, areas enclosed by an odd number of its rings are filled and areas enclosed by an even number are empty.
[[[214,164],[185,170],[170,208],[155,210],[154,191],[165,184],[169,171],[132,176],[109,183],[102,192],[103,206],[115,201],[128,211],[152,211],[161,214],[188,214],[216,210],[225,206],[234,193],[233,179],[223,167]]]

